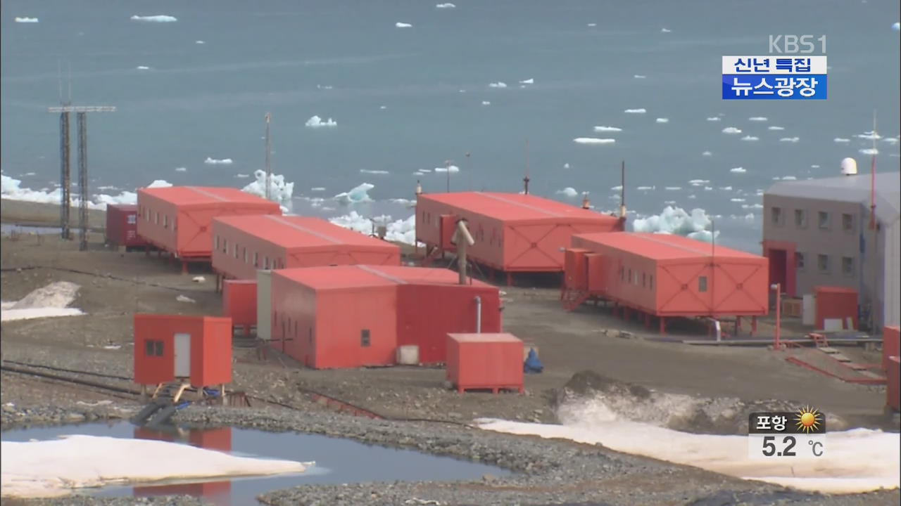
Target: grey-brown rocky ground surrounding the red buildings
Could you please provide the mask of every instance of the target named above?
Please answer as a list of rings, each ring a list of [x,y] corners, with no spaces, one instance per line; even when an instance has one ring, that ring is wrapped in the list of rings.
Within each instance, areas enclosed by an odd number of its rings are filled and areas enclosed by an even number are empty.
[[[4,221],[8,216],[31,215],[28,209],[19,209],[9,201],[3,203]],[[18,300],[53,281],[69,281],[81,286],[72,305],[87,313],[77,317],[4,322],[0,327],[0,344],[5,361],[131,377],[134,312],[221,312],[221,300],[214,293],[214,277],[209,273],[181,276],[176,266],[162,258],[123,254],[105,249],[101,243],[102,236],[92,235],[91,248],[79,252],[77,244],[53,236],[2,239],[0,285],[4,301]],[[205,282],[192,281],[198,274],[206,277]],[[885,393],[879,388],[845,384],[816,375],[787,364],[777,354],[762,348],[691,347],[657,342],[653,340],[656,336],[641,325],[619,321],[601,309],[585,307],[573,313],[562,312],[559,294],[554,290],[503,290],[505,330],[536,346],[546,367],[542,375],[527,376],[525,395],[452,392],[444,387],[444,371],[439,368],[313,371],[297,367],[278,350],[268,350],[263,360],[256,350],[239,348],[235,352],[232,389],[258,400],[287,403],[302,412],[262,408],[265,402],[251,400],[254,407],[242,411],[180,411],[179,421],[326,433],[466,458],[478,456],[483,462],[519,472],[509,478],[487,476],[478,483],[302,487],[268,493],[261,498],[268,504],[413,504],[417,503],[412,501],[414,498],[442,504],[901,503],[897,491],[842,497],[792,495],[779,487],[624,456],[603,447],[484,433],[437,422],[354,418],[333,413],[311,400],[310,392],[325,393],[390,419],[468,422],[487,417],[556,423],[554,402],[561,387],[580,371],[596,371],[655,394],[730,398],[740,402],[760,399],[805,402],[839,417],[848,426],[894,428],[881,415]],[[195,302],[178,302],[178,295],[186,295]],[[696,327],[682,325],[673,330],[699,339]],[[761,322],[761,334],[767,335],[771,330],[771,322]],[[798,330],[796,322],[787,321],[786,335]],[[135,388],[128,380],[83,379]],[[123,418],[138,406],[127,400],[128,395],[115,396],[30,376],[4,372],[0,380],[3,429]],[[132,498],[81,498],[27,503],[132,504],[134,501]],[[157,498],[146,503],[197,502]]]

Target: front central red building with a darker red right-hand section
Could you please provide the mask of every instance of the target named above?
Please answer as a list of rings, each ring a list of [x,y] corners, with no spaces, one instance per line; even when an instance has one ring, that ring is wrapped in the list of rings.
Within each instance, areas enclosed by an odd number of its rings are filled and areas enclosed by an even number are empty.
[[[497,288],[458,279],[426,267],[279,269],[272,272],[272,339],[316,369],[391,366],[397,348],[409,345],[419,348],[420,363],[441,363],[448,333],[477,330],[479,303],[481,331],[501,330]]]

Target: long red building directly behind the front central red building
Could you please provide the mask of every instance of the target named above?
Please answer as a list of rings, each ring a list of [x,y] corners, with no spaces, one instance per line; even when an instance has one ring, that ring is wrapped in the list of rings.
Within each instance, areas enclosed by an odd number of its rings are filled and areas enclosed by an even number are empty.
[[[257,269],[365,264],[399,266],[400,248],[304,216],[221,216],[213,220],[213,268],[256,279]]]

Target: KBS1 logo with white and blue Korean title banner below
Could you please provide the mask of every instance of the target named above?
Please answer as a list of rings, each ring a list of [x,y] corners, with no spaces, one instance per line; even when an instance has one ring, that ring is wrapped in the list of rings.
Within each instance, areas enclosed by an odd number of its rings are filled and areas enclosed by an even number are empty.
[[[825,35],[770,35],[769,55],[724,56],[723,100],[825,100],[825,52]]]

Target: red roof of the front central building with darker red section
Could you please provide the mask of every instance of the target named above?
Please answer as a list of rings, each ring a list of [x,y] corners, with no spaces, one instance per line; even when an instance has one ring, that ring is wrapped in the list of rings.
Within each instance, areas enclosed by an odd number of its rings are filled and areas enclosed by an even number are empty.
[[[275,275],[285,276],[314,290],[367,288],[397,285],[458,285],[460,275],[450,269],[406,266],[330,266],[278,269]],[[491,286],[472,280],[472,285]]]

